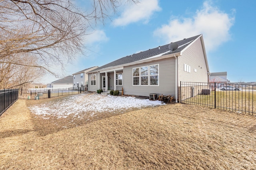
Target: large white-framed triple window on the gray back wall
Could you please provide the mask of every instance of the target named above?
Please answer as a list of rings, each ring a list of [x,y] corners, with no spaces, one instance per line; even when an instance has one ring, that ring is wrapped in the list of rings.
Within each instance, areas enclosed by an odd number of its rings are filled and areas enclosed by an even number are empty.
[[[158,86],[159,64],[132,68],[133,86]]]

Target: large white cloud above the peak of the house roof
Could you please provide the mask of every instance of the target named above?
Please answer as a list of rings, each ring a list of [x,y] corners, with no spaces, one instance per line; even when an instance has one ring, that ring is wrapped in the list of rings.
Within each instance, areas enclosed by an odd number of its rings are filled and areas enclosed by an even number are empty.
[[[235,12],[233,10],[233,12]],[[214,50],[230,39],[229,30],[234,24],[234,17],[212,6],[210,1],[196,11],[191,18],[174,18],[166,25],[156,29],[154,35],[166,43],[203,34],[206,50]]]

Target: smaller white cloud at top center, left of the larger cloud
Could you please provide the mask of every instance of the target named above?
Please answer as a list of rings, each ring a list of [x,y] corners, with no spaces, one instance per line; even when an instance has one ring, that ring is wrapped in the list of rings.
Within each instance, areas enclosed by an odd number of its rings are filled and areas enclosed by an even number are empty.
[[[160,10],[158,0],[140,0],[138,4],[126,6],[120,17],[113,22],[115,26],[125,26],[138,21],[147,23],[152,14]]]

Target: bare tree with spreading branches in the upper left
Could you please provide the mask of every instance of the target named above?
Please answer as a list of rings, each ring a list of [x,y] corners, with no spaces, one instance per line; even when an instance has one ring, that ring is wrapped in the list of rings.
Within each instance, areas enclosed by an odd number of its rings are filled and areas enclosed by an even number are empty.
[[[52,65],[63,69],[64,61],[70,62],[77,53],[83,53],[90,21],[104,23],[107,12],[116,13],[120,4],[121,0],[94,0],[92,12],[85,14],[71,0],[0,0],[1,76],[14,65],[44,69],[57,76]],[[25,54],[34,62],[14,60]],[[8,84],[13,75],[8,76],[0,77],[0,83]]]

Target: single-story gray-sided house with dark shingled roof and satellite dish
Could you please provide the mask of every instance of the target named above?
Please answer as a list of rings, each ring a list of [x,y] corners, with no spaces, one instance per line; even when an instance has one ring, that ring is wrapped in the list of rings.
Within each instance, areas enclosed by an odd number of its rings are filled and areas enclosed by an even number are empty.
[[[201,34],[100,66],[88,72],[88,90],[123,88],[127,95],[172,95],[177,102],[180,81],[208,82],[209,74]]]

